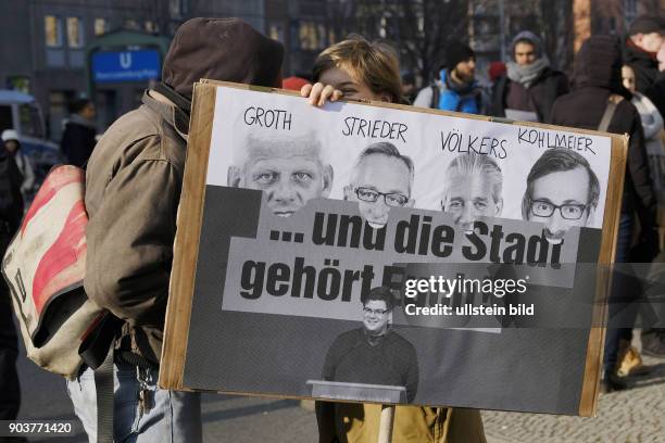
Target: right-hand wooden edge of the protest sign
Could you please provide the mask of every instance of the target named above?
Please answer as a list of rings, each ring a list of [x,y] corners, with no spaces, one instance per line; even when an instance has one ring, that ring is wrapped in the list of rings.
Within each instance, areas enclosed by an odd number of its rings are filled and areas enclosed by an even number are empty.
[[[605,194],[605,214],[603,217],[602,240],[597,266],[595,296],[589,341],[587,344],[587,362],[582,381],[582,392],[578,413],[581,417],[595,416],[598,395],[600,393],[600,372],[605,343],[605,328],[603,325],[607,315],[604,301],[611,289],[611,266],[614,263],[617,232],[622,208],[622,194],[626,162],[628,159],[628,136],[610,135],[612,138],[612,154],[610,173],[607,175],[607,193]],[[610,204],[614,202],[614,205]]]

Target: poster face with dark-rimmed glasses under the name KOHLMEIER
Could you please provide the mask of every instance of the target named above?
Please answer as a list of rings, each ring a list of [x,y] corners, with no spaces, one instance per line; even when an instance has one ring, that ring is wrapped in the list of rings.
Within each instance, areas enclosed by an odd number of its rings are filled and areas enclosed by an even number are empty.
[[[549,149],[527,176],[522,216],[544,223],[545,238],[559,244],[569,228],[592,221],[599,195],[598,177],[587,159],[567,149]]]

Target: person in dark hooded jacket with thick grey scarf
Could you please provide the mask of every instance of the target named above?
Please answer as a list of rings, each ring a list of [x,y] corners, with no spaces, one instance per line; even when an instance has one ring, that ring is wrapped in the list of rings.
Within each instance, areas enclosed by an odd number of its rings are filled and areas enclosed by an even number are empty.
[[[494,83],[490,114],[511,117],[511,111],[522,111],[534,114],[529,121],[548,122],[556,99],[568,92],[568,78],[550,67],[540,38],[528,30],[515,36],[511,54],[506,74]]]

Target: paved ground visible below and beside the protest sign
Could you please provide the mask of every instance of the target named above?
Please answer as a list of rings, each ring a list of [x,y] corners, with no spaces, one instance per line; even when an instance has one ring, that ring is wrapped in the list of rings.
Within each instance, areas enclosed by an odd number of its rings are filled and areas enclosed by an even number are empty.
[[[488,443],[665,443],[665,359],[644,357],[644,363],[653,365],[654,370],[636,378],[633,389],[602,395],[595,418],[484,412]],[[23,357],[18,370],[23,391],[20,418],[74,420],[75,435],[35,438],[30,442],[87,441],[72,412],[63,379]],[[316,441],[314,413],[300,407],[300,402],[204,394],[202,403],[206,443]]]

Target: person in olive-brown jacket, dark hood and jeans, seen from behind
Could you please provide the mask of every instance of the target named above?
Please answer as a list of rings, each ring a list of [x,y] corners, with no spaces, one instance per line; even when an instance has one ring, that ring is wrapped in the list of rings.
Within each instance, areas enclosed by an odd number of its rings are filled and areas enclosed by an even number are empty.
[[[281,43],[239,18],[186,22],[164,59],[162,81],[109,127],[90,156],[84,286],[124,321],[115,340],[115,441],[202,440],[199,394],[156,387],[193,83],[279,87],[283,54]],[[95,441],[92,370],[84,365],[67,392]]]

